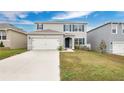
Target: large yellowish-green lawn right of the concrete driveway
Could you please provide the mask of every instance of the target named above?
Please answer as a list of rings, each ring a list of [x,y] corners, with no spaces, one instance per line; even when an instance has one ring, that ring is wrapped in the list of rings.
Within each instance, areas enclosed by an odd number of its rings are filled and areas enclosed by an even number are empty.
[[[61,52],[61,80],[124,80],[124,57],[89,51]]]

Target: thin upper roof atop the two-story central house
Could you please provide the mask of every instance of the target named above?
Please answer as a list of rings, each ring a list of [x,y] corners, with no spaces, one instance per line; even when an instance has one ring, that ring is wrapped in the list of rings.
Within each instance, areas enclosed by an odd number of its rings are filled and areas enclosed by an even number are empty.
[[[48,21],[48,22],[36,22],[35,24],[87,24],[86,22],[77,21]]]

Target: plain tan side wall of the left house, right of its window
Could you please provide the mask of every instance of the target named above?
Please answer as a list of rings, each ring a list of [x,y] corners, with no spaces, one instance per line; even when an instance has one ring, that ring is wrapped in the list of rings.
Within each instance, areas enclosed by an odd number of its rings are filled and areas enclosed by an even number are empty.
[[[27,47],[27,35],[12,30],[8,31],[10,40],[10,48],[26,48]]]

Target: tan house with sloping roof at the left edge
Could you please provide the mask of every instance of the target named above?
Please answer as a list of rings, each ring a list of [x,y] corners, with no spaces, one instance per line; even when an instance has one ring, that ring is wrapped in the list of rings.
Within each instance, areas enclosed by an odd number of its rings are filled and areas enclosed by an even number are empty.
[[[27,34],[12,24],[0,23],[0,42],[10,49],[26,48]]]

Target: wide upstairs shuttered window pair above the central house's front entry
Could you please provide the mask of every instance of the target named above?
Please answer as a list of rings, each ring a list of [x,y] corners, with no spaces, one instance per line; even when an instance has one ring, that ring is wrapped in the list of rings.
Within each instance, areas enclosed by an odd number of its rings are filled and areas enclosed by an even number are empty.
[[[84,32],[84,25],[82,25],[82,24],[65,24],[64,31]]]

